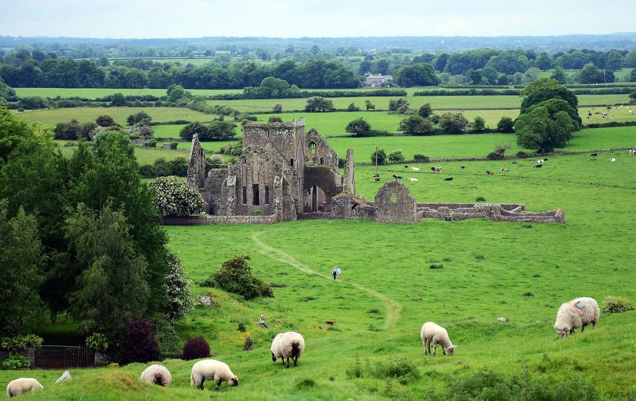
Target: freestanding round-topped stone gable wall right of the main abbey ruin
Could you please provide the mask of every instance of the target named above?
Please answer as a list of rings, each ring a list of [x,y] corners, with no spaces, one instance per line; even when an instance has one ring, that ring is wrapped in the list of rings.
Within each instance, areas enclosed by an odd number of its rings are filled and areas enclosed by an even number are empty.
[[[417,217],[415,196],[400,181],[386,182],[375,194],[375,221],[412,223]]]

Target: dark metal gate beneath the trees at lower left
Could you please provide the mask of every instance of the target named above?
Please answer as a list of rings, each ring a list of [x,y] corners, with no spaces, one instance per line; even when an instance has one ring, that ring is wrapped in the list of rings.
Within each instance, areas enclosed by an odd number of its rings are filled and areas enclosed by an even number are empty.
[[[76,369],[93,367],[93,351],[79,346],[43,345],[36,349],[35,367],[38,369]]]

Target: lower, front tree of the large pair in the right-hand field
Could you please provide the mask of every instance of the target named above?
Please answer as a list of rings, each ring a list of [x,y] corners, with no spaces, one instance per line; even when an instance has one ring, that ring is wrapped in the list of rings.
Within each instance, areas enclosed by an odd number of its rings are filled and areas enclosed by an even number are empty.
[[[541,105],[520,114],[515,122],[517,144],[526,149],[537,149],[539,153],[553,151],[567,144],[574,132],[572,119],[565,111],[550,118],[548,109]]]

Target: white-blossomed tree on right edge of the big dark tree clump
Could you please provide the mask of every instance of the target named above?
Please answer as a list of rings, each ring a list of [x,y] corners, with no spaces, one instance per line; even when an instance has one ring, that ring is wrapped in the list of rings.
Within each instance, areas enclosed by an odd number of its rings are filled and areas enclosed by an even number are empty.
[[[166,275],[166,295],[169,304],[163,309],[163,313],[166,320],[174,324],[194,308],[194,296],[192,282],[188,279],[188,272],[179,255],[169,250],[167,256],[169,270]]]

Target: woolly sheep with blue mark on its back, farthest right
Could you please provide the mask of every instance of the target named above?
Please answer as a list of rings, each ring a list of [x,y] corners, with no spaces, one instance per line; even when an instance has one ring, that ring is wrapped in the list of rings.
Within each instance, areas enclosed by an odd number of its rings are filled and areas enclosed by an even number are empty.
[[[574,329],[579,327],[581,327],[581,332],[583,332],[585,326],[590,323],[592,330],[594,330],[598,323],[598,313],[598,304],[595,299],[590,297],[572,299],[572,301],[565,302],[558,308],[554,329],[560,339],[574,334]]]

